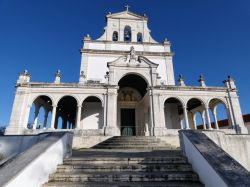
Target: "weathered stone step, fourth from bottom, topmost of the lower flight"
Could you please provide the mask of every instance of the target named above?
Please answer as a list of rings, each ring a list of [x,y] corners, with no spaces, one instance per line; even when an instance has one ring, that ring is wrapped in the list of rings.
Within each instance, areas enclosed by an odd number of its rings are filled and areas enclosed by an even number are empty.
[[[121,158],[121,157],[104,157],[104,158],[69,158],[65,159],[63,164],[169,164],[169,163],[187,163],[185,157],[176,156],[176,157],[154,157],[154,158]]]

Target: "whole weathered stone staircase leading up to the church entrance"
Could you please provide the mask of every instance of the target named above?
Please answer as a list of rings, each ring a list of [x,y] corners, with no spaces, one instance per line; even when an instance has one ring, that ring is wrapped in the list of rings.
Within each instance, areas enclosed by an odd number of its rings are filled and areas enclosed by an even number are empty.
[[[165,149],[164,149],[165,148]],[[43,187],[201,187],[181,150],[155,137],[113,137],[73,151]]]

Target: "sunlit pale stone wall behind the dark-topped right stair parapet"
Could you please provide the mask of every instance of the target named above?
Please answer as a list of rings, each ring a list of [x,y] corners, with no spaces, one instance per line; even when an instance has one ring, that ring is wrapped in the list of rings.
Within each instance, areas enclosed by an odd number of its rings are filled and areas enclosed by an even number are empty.
[[[223,131],[203,131],[203,133],[250,171],[250,134],[226,134]]]

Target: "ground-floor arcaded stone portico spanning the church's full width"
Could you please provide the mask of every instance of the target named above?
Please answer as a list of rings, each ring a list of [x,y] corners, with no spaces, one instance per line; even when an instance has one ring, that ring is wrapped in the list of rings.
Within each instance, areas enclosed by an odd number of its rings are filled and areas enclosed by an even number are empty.
[[[71,94],[62,93],[62,87]],[[162,136],[169,129],[197,129],[197,115],[203,129],[219,129],[218,104],[224,106],[228,128],[244,129],[238,97],[223,87],[150,88],[142,76],[130,73],[110,87],[64,84],[51,88],[50,84],[33,83],[21,88],[9,134],[76,129],[92,135]],[[21,94],[27,90],[29,93]]]

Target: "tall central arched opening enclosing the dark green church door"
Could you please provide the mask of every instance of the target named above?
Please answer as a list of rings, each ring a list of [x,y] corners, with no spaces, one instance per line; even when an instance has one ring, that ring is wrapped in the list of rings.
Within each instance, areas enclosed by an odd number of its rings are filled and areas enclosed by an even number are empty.
[[[144,136],[149,127],[148,83],[137,74],[118,82],[117,122],[122,136]]]

